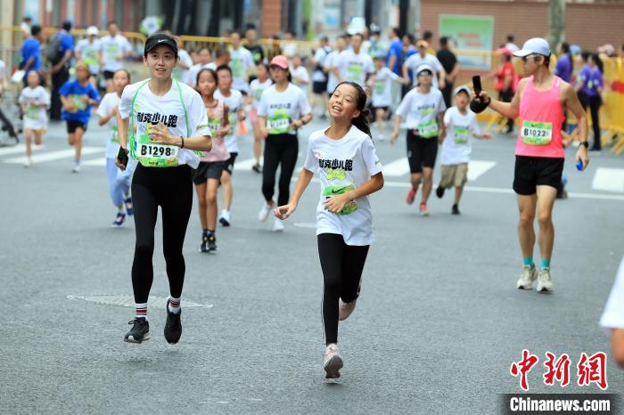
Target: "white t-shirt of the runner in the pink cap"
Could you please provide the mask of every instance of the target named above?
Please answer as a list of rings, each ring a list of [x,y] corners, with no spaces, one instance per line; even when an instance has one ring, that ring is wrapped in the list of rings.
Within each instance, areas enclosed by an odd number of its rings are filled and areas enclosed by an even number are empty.
[[[260,98],[258,117],[267,118],[268,134],[297,134],[291,128],[294,119],[312,112],[308,97],[297,85],[288,84],[283,92],[275,85],[268,87]]]

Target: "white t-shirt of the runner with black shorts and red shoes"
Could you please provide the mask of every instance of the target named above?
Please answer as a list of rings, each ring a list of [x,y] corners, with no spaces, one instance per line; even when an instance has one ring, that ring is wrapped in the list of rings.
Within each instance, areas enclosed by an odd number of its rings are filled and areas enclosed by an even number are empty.
[[[403,97],[395,113],[405,118],[408,129],[422,132],[430,131],[437,122],[438,113],[446,109],[439,89],[431,88],[429,94],[421,94],[414,88]]]

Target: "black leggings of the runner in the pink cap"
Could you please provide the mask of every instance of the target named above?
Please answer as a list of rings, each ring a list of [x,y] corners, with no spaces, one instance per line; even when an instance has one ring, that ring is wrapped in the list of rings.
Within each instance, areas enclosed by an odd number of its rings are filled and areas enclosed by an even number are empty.
[[[279,196],[277,206],[288,203],[292,171],[297,164],[299,140],[296,134],[269,134],[265,142],[264,166],[262,167],[262,194],[265,200],[273,199],[275,193],[275,173],[280,164]]]

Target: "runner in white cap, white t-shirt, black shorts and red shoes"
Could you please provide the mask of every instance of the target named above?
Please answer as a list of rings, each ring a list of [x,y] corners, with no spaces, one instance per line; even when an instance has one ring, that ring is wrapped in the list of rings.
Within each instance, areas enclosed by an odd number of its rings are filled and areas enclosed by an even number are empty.
[[[397,141],[401,118],[406,117],[407,160],[412,173],[410,181],[412,188],[407,192],[408,205],[414,203],[416,191],[421,180],[423,183],[423,199],[420,212],[428,216],[427,200],[431,195],[433,167],[438,155],[438,139],[444,139],[446,129],[443,116],[447,106],[438,88],[431,88],[433,68],[426,63],[416,69],[418,86],[406,94],[396,111],[394,132],[390,142]]]

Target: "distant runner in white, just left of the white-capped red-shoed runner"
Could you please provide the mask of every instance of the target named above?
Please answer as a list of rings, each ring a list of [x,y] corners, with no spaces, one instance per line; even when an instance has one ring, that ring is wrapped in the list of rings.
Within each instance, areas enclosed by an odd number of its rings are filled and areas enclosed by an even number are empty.
[[[383,141],[386,139],[383,131],[383,120],[388,116],[388,110],[392,104],[392,82],[407,84],[409,80],[399,77],[385,66],[386,53],[375,55],[373,61],[377,71],[369,79],[368,85],[373,89],[371,102],[377,125],[377,138]]]

